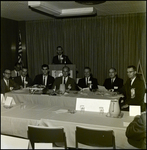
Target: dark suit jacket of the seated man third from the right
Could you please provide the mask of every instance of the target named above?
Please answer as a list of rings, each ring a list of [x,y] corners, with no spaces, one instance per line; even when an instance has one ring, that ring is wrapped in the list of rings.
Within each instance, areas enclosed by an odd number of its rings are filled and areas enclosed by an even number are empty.
[[[93,77],[90,77],[89,80],[92,81],[92,89],[98,89],[99,84],[98,84],[97,79],[93,78]],[[81,88],[87,88],[88,87],[86,85],[86,82],[85,82],[85,77],[82,78],[82,79],[79,79],[78,86],[81,87]]]

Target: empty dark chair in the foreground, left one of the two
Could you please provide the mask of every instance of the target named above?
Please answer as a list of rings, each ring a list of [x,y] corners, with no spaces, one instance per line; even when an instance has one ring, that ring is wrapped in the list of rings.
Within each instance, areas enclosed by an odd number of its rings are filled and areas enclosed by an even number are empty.
[[[35,143],[61,144],[67,149],[66,136],[62,127],[41,127],[28,125],[28,139],[34,149]]]

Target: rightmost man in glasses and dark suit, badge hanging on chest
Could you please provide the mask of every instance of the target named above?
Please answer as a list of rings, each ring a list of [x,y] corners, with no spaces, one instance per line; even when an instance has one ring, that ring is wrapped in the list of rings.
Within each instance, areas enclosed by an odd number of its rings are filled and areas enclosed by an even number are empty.
[[[131,65],[127,67],[128,80],[125,85],[118,90],[124,95],[124,99],[120,100],[121,110],[129,110],[129,105],[141,106],[141,111],[145,110],[144,94],[145,84],[143,80],[137,76],[136,67]]]

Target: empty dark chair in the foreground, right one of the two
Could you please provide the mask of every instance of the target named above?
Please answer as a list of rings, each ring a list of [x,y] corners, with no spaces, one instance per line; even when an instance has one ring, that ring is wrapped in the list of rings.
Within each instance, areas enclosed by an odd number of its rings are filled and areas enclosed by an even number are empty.
[[[113,130],[97,130],[77,126],[75,137],[77,149],[79,148],[78,143],[92,147],[113,147],[113,149],[115,149]]]

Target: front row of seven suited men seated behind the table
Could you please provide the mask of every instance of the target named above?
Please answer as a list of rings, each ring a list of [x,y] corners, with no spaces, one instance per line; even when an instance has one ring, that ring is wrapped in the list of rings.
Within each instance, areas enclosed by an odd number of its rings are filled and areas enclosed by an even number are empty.
[[[92,76],[89,67],[84,68],[84,77],[79,79],[77,84],[76,81],[69,76],[70,68],[68,66],[64,66],[62,68],[62,76],[55,79],[49,75],[49,66],[47,64],[43,64],[41,70],[42,74],[36,75],[34,81],[32,81],[25,67],[22,68],[17,77],[12,76],[13,71],[6,69],[3,73],[3,79],[1,80],[1,93],[9,92],[12,89],[29,87],[35,84],[44,85],[45,89],[54,90],[59,90],[60,84],[65,84],[65,88],[68,90],[81,90],[87,87],[92,91],[98,89],[98,81]],[[120,101],[122,109],[128,110],[129,105],[140,105],[142,110],[144,110],[144,82],[137,76],[135,66],[127,67],[127,75],[129,79],[123,85],[123,79],[117,76],[116,69],[110,68],[110,78],[107,78],[103,85],[112,92],[118,92],[124,95],[124,100]]]

